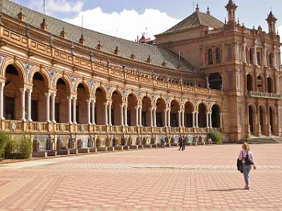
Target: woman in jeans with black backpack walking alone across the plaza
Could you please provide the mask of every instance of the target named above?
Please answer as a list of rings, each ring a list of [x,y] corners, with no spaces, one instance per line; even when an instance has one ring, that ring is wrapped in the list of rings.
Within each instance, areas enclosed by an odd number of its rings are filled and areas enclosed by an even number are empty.
[[[255,166],[255,159],[254,155],[252,155],[252,152],[250,151],[250,146],[248,143],[243,143],[242,150],[239,154],[239,160],[242,161],[242,167],[243,167],[243,174],[245,179],[245,190],[250,189],[250,170],[252,170],[252,166],[254,167],[254,170],[256,169]]]

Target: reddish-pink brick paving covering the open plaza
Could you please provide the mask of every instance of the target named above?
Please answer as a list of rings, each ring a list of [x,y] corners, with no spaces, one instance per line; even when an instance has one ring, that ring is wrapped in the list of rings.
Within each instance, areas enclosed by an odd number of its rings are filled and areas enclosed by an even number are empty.
[[[0,165],[0,210],[282,210],[282,145],[252,145],[251,189],[240,145],[99,153]]]

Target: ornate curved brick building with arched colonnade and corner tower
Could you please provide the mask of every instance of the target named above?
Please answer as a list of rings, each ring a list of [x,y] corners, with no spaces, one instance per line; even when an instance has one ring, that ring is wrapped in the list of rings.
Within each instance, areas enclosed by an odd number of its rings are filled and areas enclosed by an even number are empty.
[[[1,4],[1,129],[30,134],[43,151],[205,140],[212,128],[226,142],[282,134],[272,12],[264,32],[236,23],[232,0],[225,23],[197,6],[141,44]]]

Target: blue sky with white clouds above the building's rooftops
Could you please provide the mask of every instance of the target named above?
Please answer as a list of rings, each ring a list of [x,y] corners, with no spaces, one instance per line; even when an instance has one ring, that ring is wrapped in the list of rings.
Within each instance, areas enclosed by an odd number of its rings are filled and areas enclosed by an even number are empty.
[[[14,2],[43,12],[44,0],[13,0]],[[228,0],[195,0],[200,11],[207,6],[214,17],[222,22],[226,17],[224,6]],[[282,0],[235,0],[238,5],[236,17],[247,27],[261,25],[267,31],[266,15],[272,8],[277,27],[282,34]],[[45,0],[45,13],[83,25],[91,30],[115,37],[135,40],[142,32],[154,38],[183,20],[194,11],[192,0]],[[146,30],[147,29],[147,30]]]

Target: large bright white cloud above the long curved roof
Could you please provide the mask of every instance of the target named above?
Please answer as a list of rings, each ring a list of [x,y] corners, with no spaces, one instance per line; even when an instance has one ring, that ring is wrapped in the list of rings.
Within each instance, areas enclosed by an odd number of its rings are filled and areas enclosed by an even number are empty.
[[[147,36],[153,39],[155,34],[168,30],[180,21],[155,9],[146,9],[142,14],[126,9],[121,13],[104,13],[99,7],[81,11],[75,18],[65,21],[80,26],[82,15],[84,27],[133,41],[137,35],[140,37],[142,32],[146,32],[146,28]]]

